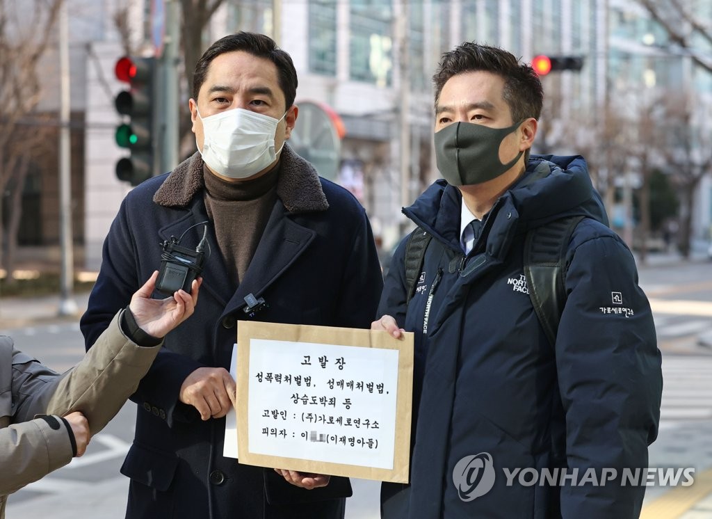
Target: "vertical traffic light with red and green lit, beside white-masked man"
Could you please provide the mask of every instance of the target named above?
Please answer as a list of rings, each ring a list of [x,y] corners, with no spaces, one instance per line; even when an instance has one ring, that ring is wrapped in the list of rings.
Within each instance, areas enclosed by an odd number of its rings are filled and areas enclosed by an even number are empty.
[[[153,174],[155,58],[123,56],[114,71],[118,80],[130,85],[114,100],[124,119],[116,127],[116,144],[131,152],[116,163],[116,176],[137,186]]]

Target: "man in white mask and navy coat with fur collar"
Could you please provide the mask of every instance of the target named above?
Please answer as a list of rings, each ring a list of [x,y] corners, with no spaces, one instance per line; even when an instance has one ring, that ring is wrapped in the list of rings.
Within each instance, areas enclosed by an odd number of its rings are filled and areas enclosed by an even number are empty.
[[[121,472],[127,518],[342,518],[345,478],[241,465],[223,456],[239,320],[369,327],[382,288],[367,216],[286,143],[298,115],[290,56],[236,33],[200,58],[189,108],[198,152],[122,202],[81,320],[86,344],[157,268],[159,242],[196,247],[201,305],[167,335],[132,399],[135,441]],[[240,395],[237,395],[240,398]]]

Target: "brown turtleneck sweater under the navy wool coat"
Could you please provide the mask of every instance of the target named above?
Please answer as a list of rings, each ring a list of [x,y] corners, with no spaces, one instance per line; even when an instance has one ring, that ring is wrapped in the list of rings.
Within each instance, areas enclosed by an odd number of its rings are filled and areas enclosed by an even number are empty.
[[[277,199],[280,169],[278,163],[256,179],[226,182],[203,167],[205,208],[235,288],[244,278]]]

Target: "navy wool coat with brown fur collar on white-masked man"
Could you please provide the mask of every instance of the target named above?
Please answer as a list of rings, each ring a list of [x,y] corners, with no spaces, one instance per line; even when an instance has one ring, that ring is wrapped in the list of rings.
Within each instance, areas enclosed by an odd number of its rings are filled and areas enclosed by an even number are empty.
[[[224,458],[224,419],[201,421],[179,402],[184,379],[199,367],[229,369],[236,321],[370,327],[382,289],[372,231],[362,206],[342,187],[321,179],[286,145],[278,199],[237,288],[209,226],[211,251],[195,314],[165,337],[164,348],[132,399],[135,439],[121,472],[131,478],[127,518],[340,518],[347,479],[306,491],[272,468]],[[87,347],[142,281],[159,268],[159,242],[208,220],[199,154],[171,174],[130,192],[103,248],[103,262],[81,320]],[[182,246],[196,246],[203,226]],[[253,318],[244,298],[264,298]]]

